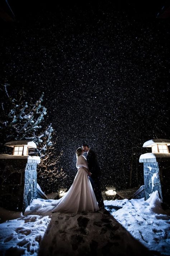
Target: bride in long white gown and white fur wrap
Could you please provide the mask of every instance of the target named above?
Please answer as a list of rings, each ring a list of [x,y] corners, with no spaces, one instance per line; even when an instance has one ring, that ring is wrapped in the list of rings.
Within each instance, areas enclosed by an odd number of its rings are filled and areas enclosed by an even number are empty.
[[[88,178],[88,174],[90,174],[88,163],[83,153],[83,149],[77,148],[77,174],[65,196],[57,200],[57,206],[53,209],[53,212],[76,213],[82,211],[95,212],[99,210],[93,188]]]

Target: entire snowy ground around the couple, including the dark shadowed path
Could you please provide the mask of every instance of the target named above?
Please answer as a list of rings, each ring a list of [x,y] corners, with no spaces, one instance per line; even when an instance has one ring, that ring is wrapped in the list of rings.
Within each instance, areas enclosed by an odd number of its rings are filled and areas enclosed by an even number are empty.
[[[0,255],[170,256],[170,212],[161,202],[155,191],[146,201],[104,201],[108,211],[95,213],[52,214],[55,200],[39,198],[24,216],[0,207]]]

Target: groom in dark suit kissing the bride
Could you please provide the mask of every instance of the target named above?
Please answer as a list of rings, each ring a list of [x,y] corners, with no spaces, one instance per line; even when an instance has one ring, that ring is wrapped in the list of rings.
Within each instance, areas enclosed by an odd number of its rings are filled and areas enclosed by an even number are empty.
[[[89,171],[91,173],[89,179],[93,187],[99,209],[100,210],[104,209],[103,197],[102,197],[101,188],[100,188],[101,172],[100,172],[100,167],[98,165],[96,154],[93,150],[90,149],[88,144],[83,144],[82,149],[84,150],[84,152],[87,152],[86,160],[88,162]]]

